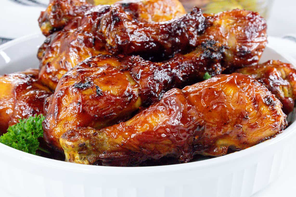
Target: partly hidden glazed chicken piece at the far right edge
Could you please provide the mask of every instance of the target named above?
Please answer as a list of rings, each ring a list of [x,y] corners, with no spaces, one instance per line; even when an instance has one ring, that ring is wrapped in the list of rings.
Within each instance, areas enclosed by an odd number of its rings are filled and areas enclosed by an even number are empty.
[[[270,60],[236,72],[251,75],[266,86],[281,101],[284,113],[293,111],[296,100],[296,70],[291,64]]]

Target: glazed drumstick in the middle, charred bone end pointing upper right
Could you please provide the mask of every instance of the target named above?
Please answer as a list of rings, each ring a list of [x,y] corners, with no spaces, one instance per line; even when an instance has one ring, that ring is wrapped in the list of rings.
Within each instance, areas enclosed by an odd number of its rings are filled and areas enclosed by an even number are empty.
[[[159,63],[139,56],[88,58],[68,71],[48,98],[44,139],[61,149],[59,137],[67,130],[126,121],[167,90],[200,81],[205,72],[220,74],[225,53],[225,46],[208,40],[195,51]]]

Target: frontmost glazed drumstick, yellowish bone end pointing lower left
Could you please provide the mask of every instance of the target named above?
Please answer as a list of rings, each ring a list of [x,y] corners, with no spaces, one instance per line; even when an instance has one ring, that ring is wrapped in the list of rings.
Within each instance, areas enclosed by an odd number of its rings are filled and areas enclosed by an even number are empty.
[[[130,166],[173,156],[221,156],[281,133],[287,126],[281,102],[243,74],[218,75],[184,89],[171,89],[160,102],[132,119],[96,130],[78,128],[62,135],[66,160]]]

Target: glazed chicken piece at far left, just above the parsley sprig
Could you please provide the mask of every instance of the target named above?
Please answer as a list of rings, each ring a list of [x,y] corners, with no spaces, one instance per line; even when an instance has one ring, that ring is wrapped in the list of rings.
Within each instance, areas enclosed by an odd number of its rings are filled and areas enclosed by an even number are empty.
[[[0,76],[0,135],[21,118],[45,114],[44,100],[52,92],[38,82],[38,70]]]

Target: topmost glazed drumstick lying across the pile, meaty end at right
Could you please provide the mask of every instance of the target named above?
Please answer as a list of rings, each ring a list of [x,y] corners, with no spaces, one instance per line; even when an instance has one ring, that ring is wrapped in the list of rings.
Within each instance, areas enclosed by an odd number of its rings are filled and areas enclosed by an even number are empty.
[[[201,15],[200,9],[193,8],[181,21],[138,23],[113,9],[102,17],[100,30],[112,54],[128,51],[150,57],[157,51],[167,57],[214,39],[229,48],[236,65],[249,65],[259,60],[266,45],[266,22],[254,12],[237,9]]]

